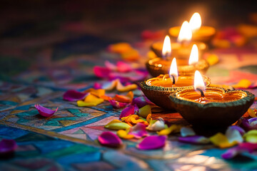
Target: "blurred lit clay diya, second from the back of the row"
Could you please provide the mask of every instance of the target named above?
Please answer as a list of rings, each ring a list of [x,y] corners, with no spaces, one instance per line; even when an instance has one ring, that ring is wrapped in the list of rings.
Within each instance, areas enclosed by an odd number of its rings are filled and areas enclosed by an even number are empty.
[[[192,39],[192,31],[191,26],[189,25],[188,21],[184,21],[178,38],[177,42],[173,41],[171,43],[171,57],[178,58],[188,58],[188,56],[191,53],[191,49],[193,47],[193,44],[196,44],[199,48],[199,56],[202,56],[203,52],[207,50],[206,43],[200,42],[200,41],[191,41]],[[162,49],[163,49],[163,43],[162,42],[156,42],[151,45],[151,50],[156,53],[157,57],[162,57]]]

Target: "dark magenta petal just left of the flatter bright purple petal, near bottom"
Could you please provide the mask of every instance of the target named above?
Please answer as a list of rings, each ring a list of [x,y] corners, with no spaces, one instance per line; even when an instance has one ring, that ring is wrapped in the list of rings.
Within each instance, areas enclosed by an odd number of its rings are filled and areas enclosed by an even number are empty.
[[[118,137],[118,135],[111,132],[101,133],[101,135],[99,135],[98,140],[101,143],[101,145],[107,147],[119,147],[120,145],[122,145],[122,141]]]

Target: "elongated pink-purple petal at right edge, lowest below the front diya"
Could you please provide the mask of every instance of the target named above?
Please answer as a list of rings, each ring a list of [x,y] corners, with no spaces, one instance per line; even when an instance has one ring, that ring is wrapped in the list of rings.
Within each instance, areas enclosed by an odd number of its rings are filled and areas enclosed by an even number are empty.
[[[233,147],[224,152],[221,157],[223,159],[231,159],[242,152],[253,152],[257,150],[257,143],[243,142],[237,147]]]

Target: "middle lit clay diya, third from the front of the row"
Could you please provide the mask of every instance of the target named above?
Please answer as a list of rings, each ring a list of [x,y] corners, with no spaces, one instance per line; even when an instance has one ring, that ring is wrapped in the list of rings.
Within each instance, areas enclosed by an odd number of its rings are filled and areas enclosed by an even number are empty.
[[[166,54],[166,42],[163,43],[163,54]],[[169,53],[170,54],[170,53]],[[160,74],[168,73],[171,60],[170,56],[167,58],[153,58],[146,63],[146,68],[151,76],[156,77]],[[193,75],[196,70],[200,71],[201,73],[206,73],[208,70],[209,64],[204,59],[198,59],[198,47],[196,44],[193,45],[189,60],[187,58],[178,58],[177,59],[178,65],[178,75]]]

